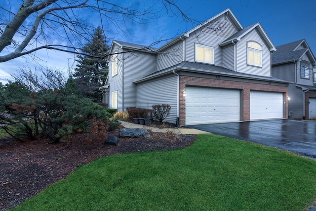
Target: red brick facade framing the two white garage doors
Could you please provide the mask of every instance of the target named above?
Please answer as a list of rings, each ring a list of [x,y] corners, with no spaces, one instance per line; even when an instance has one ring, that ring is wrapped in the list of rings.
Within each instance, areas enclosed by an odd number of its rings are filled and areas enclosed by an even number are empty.
[[[180,89],[185,90],[186,86],[201,86],[201,87],[213,87],[213,88],[230,88],[230,89],[239,89],[242,96],[242,114],[240,114],[241,121],[250,120],[250,90],[258,91],[274,91],[285,93],[285,96],[288,95],[287,86],[278,86],[278,85],[269,85],[269,84],[254,84],[247,82],[236,82],[236,81],[227,81],[220,79],[207,79],[207,78],[198,78],[191,76],[180,76]],[[179,124],[185,125],[186,121],[186,102],[185,97],[180,91],[180,102],[179,102]],[[287,99],[285,100],[285,118],[287,117]]]

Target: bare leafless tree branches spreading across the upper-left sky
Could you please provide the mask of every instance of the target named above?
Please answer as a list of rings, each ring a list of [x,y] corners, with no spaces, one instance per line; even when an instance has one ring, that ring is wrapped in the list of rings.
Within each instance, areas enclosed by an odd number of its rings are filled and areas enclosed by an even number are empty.
[[[43,48],[83,54],[79,47],[95,24],[101,23],[107,37],[132,36],[126,25],[150,22],[162,10],[189,20],[173,0],[8,0],[0,5],[0,62]],[[90,19],[95,14],[98,20]]]

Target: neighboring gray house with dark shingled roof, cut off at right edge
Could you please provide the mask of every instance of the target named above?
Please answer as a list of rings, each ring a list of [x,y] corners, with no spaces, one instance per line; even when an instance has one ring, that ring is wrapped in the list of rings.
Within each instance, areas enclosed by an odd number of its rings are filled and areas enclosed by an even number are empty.
[[[272,75],[292,84],[288,87],[290,118],[316,117],[316,60],[306,40],[280,45],[272,54]]]

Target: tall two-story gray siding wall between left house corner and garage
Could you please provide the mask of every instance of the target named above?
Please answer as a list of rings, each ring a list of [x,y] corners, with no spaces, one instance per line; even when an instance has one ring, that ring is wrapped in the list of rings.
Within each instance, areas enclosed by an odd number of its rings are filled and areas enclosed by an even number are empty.
[[[156,69],[156,56],[152,53],[124,53],[123,111],[136,107],[136,85],[134,81],[153,73]]]

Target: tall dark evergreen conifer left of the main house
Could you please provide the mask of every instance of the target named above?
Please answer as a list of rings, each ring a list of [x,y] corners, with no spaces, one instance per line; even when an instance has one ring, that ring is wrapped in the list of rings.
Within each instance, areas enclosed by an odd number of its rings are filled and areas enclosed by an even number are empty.
[[[82,52],[94,55],[104,56],[109,53],[110,47],[103,35],[100,27],[94,31],[91,42],[85,44]],[[99,87],[103,85],[108,75],[109,65],[106,58],[100,59],[90,56],[77,56],[77,68],[75,68],[74,79],[78,84],[81,95],[90,98],[94,102],[100,102],[102,93]]]

